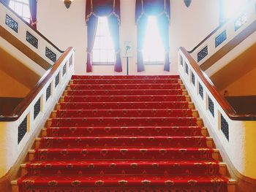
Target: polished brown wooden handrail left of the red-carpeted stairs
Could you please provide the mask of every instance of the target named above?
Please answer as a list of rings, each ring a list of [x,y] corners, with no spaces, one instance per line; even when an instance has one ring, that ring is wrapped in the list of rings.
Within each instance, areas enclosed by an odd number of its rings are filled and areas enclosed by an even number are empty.
[[[56,61],[56,63],[48,69],[47,72],[41,77],[39,82],[37,82],[37,85],[34,86],[34,88],[29,92],[29,94],[23,99],[23,101],[18,104],[18,106],[13,110],[11,115],[1,115],[0,121],[15,121],[20,118],[20,115],[23,114],[23,112],[29,107],[29,104],[36,98],[38,93],[44,88],[45,84],[50,80],[50,78],[53,76],[54,72],[59,68],[62,61],[67,57],[67,55],[74,50],[73,47],[68,47],[67,50],[62,53],[62,55],[59,57],[59,59]]]

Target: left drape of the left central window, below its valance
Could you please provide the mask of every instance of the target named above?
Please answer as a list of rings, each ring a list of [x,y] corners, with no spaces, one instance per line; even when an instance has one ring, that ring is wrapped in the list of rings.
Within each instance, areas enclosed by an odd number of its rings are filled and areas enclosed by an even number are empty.
[[[91,51],[94,47],[94,39],[97,31],[98,18],[95,15],[91,15],[87,21],[87,63],[86,72],[92,71]]]

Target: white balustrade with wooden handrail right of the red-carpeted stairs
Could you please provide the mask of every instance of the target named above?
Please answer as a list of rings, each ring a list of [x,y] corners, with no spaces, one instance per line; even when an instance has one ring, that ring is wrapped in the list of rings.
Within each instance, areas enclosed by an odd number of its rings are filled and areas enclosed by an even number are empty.
[[[255,178],[256,115],[236,114],[184,47],[178,50],[178,61],[181,80],[225,161],[238,173]]]

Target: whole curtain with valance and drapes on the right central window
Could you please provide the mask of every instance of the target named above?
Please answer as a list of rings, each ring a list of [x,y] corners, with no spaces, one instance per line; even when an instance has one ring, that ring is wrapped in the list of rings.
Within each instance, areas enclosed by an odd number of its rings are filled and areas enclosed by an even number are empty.
[[[165,67],[164,70],[170,71],[169,58],[169,24],[170,24],[170,0],[136,0],[135,22],[137,23],[137,65],[138,72],[143,72],[143,42],[146,34],[148,15],[157,16],[159,34],[165,48]]]

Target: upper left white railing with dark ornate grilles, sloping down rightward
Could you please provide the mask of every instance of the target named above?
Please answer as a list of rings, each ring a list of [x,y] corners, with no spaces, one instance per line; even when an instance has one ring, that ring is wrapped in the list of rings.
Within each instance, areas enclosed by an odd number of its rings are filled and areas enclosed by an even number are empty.
[[[26,20],[23,20],[23,18],[10,9],[2,0],[0,0],[0,26],[51,65],[53,65],[63,53],[62,50],[59,50],[56,45],[53,45],[53,43],[40,34],[39,31],[31,28]]]

